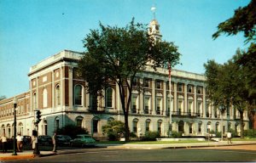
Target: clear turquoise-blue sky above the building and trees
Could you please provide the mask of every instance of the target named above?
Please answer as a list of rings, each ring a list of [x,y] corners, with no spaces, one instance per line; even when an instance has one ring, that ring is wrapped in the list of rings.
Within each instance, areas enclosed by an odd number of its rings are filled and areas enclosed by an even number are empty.
[[[214,59],[223,64],[247,48],[242,34],[213,40],[212,34],[236,8],[249,0],[0,0],[0,96],[29,91],[28,72],[64,49],[84,52],[82,40],[90,29],[124,27],[132,18],[160,23],[162,40],[174,42],[182,54],[174,68],[198,74]]]

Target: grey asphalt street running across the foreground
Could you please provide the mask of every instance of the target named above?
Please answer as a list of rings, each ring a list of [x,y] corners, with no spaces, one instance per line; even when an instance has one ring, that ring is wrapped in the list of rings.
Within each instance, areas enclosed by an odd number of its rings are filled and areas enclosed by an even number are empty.
[[[129,162],[129,161],[256,161],[255,144],[223,148],[200,149],[79,149],[79,153],[67,153],[31,160],[6,160],[3,162]],[[76,149],[73,149],[73,151]]]

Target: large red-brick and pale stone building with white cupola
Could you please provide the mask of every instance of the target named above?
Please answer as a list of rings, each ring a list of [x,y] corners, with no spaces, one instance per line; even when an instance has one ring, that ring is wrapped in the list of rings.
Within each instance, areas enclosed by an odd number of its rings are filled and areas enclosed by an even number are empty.
[[[159,24],[152,20],[149,32],[160,37]],[[83,53],[63,50],[33,65],[28,73],[29,90],[16,95],[17,132],[32,135],[35,110],[42,112],[39,135],[53,135],[56,129],[73,124],[87,128],[94,137],[106,137],[102,126],[110,120],[125,121],[119,98],[119,87],[112,83],[103,90],[103,97],[85,90],[86,82],[78,73],[78,61]],[[221,115],[206,96],[206,77],[183,70],[172,70],[171,93],[169,71],[150,67],[137,74],[132,92],[129,127],[137,136],[147,131],[167,137],[172,131],[183,136],[203,136],[207,132],[240,132],[240,115],[232,106]],[[170,97],[171,96],[171,97]],[[0,134],[14,135],[14,98],[0,101]],[[170,114],[171,106],[171,114]],[[244,129],[248,129],[247,112]],[[172,121],[171,121],[172,120]],[[222,127],[223,126],[223,127]]]

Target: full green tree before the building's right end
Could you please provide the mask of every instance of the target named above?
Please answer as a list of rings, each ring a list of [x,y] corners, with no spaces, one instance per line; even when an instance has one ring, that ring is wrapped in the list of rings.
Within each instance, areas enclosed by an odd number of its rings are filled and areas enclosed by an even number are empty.
[[[205,64],[207,76],[207,98],[218,106],[221,114],[228,111],[231,104],[240,113],[241,138],[243,138],[243,114],[247,110],[249,89],[246,87],[245,73],[240,65],[236,63],[241,59],[241,50],[228,60],[224,65],[218,65],[210,60]]]

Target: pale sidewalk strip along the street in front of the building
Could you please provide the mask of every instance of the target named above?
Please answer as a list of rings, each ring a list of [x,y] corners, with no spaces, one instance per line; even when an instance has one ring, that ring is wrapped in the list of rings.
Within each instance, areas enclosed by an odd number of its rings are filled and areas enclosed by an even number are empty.
[[[179,148],[198,148],[198,147],[218,147],[218,146],[232,146],[232,145],[246,145],[256,144],[256,141],[234,141],[232,143],[223,142],[209,142],[209,143],[167,143],[167,144],[97,144],[97,147],[108,149],[179,149]],[[84,149],[60,149],[55,154],[52,151],[40,151],[39,157],[49,155],[64,155],[71,153],[81,153]],[[18,152],[17,155],[13,153],[6,153],[0,155],[0,160],[25,160],[36,157],[32,150]]]

